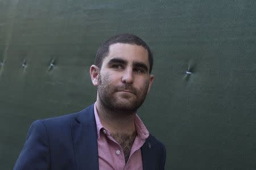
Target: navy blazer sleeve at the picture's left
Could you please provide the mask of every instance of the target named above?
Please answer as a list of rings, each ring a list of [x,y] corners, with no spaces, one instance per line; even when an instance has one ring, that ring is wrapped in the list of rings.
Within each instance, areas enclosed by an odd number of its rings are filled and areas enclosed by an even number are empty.
[[[49,140],[42,120],[35,121],[28,130],[27,139],[16,160],[14,170],[48,170]]]

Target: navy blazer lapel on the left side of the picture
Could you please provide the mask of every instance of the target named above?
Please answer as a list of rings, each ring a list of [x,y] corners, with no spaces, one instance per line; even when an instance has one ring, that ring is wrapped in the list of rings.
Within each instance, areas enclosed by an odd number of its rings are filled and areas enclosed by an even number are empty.
[[[76,169],[98,169],[97,128],[93,105],[77,114],[72,125]]]

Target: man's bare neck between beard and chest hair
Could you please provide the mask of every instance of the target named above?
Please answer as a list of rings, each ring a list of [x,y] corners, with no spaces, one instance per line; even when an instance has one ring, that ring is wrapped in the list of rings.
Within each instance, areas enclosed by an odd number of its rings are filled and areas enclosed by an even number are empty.
[[[133,134],[135,112],[112,111],[97,99],[96,108],[101,124],[112,134]]]

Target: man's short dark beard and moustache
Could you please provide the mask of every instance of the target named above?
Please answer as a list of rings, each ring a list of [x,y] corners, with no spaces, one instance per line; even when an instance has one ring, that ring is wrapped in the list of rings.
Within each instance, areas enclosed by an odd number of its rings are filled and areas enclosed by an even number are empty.
[[[146,99],[148,86],[149,81],[144,82],[139,89],[127,83],[117,86],[111,83],[109,75],[98,75],[98,97],[105,108],[114,112],[136,112]],[[118,95],[119,91],[129,91],[131,94]]]

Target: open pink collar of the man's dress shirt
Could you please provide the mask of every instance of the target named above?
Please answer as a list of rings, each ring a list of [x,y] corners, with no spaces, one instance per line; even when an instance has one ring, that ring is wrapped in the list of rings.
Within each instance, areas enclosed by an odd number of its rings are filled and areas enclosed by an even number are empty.
[[[94,116],[95,116],[95,121],[96,121],[96,126],[97,126],[97,137],[98,140],[100,139],[100,131],[101,129],[106,130],[106,134],[109,134],[108,129],[104,128],[104,126],[101,124],[100,117],[98,116],[97,108],[96,108],[96,102],[94,103]],[[137,136],[143,140],[147,139],[149,136],[149,132],[146,128],[146,126],[143,124],[141,118],[139,118],[138,114],[135,115],[135,128],[137,130]]]

